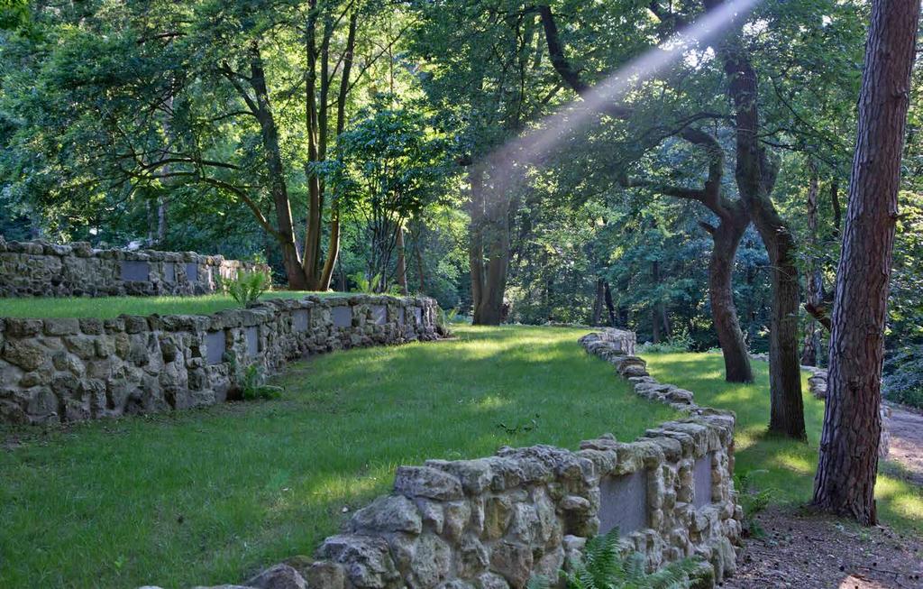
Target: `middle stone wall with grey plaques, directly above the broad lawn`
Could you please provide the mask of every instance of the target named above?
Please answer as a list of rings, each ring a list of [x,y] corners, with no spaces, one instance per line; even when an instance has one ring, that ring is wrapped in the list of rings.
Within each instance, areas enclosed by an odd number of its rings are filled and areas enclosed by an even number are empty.
[[[79,421],[221,403],[242,370],[436,335],[436,301],[272,299],[210,316],[0,319],[0,422]]]

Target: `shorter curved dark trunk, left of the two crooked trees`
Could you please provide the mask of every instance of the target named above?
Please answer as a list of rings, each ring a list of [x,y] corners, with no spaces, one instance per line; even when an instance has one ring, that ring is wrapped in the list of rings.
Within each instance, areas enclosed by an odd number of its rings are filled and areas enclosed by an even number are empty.
[[[714,228],[712,257],[708,265],[708,295],[712,304],[714,331],[718,334],[721,354],[725,357],[727,382],[753,382],[749,351],[737,319],[734,304],[734,258],[737,247],[747,231],[749,215],[743,203],[737,201],[728,207],[730,217]]]

